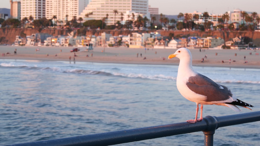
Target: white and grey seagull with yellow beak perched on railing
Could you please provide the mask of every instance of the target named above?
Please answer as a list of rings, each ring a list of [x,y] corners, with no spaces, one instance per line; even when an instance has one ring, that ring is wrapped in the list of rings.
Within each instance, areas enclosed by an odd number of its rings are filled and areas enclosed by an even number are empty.
[[[239,99],[227,87],[215,83],[210,78],[194,71],[192,68],[192,55],[187,48],[180,48],[168,59],[177,57],[180,59],[177,75],[177,88],[180,94],[189,101],[197,104],[195,120],[187,120],[188,123],[196,123],[202,120],[203,105],[226,106],[235,111],[241,111],[237,106],[251,110],[254,107]],[[200,105],[200,119],[198,111]],[[237,105],[237,106],[236,106]]]

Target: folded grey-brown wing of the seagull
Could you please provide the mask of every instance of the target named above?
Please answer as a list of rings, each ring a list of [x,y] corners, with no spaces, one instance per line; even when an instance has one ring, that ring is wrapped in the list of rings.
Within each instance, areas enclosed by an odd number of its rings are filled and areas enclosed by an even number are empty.
[[[224,101],[233,96],[227,87],[215,83],[200,73],[191,76],[186,85],[191,91],[206,96],[206,102]]]

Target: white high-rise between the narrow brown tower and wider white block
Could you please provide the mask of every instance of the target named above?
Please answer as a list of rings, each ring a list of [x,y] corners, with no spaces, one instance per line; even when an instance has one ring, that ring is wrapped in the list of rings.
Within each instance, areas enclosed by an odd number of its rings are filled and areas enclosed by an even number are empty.
[[[30,16],[45,18],[45,0],[21,0],[21,19]]]

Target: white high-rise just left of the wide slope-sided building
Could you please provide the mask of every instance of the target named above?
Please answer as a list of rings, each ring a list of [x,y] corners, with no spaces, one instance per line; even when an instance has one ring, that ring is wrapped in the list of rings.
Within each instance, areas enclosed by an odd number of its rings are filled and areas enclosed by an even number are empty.
[[[88,0],[46,0],[46,18],[51,19],[56,16],[59,21],[66,23],[73,17],[79,18],[80,12],[87,6]]]

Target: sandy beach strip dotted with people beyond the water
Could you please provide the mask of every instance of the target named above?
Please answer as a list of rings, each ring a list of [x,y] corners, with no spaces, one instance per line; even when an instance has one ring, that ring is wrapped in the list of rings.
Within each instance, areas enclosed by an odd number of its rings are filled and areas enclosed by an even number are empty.
[[[74,61],[74,53],[70,52],[73,48],[75,47],[0,46],[0,59],[69,61],[69,57],[71,56],[71,61]],[[16,55],[14,54],[15,49],[17,49]],[[178,58],[168,59],[168,55],[173,54],[176,50],[95,47],[93,51],[87,52],[81,49],[80,52],[76,52],[75,61],[178,65]],[[190,49],[190,51],[193,56],[194,66],[260,69],[260,50],[205,49],[205,51],[201,50],[200,52],[199,49]],[[201,62],[202,58],[204,58],[204,62]],[[231,59],[230,63],[229,59]],[[245,63],[246,61],[247,63]]]

